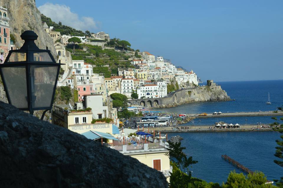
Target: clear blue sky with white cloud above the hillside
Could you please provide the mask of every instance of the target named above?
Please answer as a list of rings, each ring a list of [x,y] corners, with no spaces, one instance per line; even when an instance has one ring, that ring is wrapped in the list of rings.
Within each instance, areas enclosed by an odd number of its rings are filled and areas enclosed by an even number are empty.
[[[105,31],[203,80],[283,79],[283,1],[36,0],[53,21]]]

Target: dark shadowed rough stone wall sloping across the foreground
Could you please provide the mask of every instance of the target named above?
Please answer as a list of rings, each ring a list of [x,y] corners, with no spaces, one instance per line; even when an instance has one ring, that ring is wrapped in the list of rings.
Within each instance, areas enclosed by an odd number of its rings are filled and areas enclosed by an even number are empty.
[[[161,172],[0,102],[1,187],[168,187]]]

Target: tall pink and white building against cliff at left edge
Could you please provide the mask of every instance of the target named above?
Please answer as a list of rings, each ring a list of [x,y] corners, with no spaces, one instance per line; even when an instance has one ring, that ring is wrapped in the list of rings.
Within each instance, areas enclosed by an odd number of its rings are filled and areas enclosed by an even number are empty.
[[[10,27],[8,11],[0,6],[0,63],[4,63],[10,49]]]

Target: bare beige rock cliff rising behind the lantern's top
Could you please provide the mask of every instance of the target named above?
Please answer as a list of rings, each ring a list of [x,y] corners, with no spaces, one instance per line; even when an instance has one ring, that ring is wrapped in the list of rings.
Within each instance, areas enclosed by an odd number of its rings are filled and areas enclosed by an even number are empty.
[[[20,35],[26,30],[32,30],[38,35],[35,41],[40,49],[50,49],[57,59],[57,53],[53,40],[47,35],[42,26],[40,11],[35,6],[34,0],[2,0],[2,5],[7,5],[8,17],[10,18],[10,33],[15,36],[16,47],[20,48],[24,41]]]

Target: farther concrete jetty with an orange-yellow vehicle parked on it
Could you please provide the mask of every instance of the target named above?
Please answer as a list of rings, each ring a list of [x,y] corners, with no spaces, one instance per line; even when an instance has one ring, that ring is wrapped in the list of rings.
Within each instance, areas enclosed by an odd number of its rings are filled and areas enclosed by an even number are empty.
[[[199,114],[187,114],[188,117],[241,117],[241,116],[282,116],[283,112],[274,113],[268,112],[235,112],[235,113],[221,113],[221,114],[207,114],[206,116],[199,116]]]

